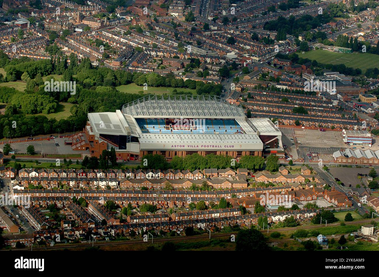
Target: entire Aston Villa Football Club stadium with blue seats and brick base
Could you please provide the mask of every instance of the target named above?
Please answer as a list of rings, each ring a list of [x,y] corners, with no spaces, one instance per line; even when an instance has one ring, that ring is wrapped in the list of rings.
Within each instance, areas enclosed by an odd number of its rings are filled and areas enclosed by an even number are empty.
[[[116,112],[88,114],[86,128],[70,140],[91,156],[113,146],[117,159],[151,153],[170,160],[193,153],[284,156],[281,138],[269,118],[246,118],[240,105],[219,96],[147,95]]]

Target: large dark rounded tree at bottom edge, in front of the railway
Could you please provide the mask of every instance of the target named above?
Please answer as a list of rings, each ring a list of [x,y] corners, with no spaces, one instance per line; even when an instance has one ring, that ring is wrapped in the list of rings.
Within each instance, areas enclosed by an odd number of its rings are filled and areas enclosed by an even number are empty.
[[[257,229],[241,229],[236,237],[236,251],[266,251],[265,237]]]

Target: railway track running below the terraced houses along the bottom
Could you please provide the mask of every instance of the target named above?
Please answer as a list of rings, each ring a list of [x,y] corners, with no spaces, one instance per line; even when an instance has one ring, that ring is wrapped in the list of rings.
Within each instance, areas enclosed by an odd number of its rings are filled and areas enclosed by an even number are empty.
[[[372,219],[361,219],[357,221],[351,221],[346,222],[346,225],[352,225],[352,224],[360,224],[360,223],[367,223],[370,222]],[[340,226],[340,223],[331,223],[327,226]],[[309,226],[302,226],[301,229],[318,229],[325,227],[324,224],[320,225],[309,225]],[[269,229],[268,233],[271,232],[286,232],[286,231],[295,231],[298,230],[299,227],[286,227],[286,228],[276,228],[276,229]],[[262,233],[267,233],[267,230],[260,230]],[[228,232],[228,233],[216,233],[212,234],[211,238],[230,238],[231,235],[236,235],[237,232]],[[154,241],[159,243],[164,243],[166,241],[191,241],[191,240],[199,240],[199,239],[207,239],[208,234],[202,234],[202,235],[196,235],[191,237],[172,237],[172,238],[155,238]],[[123,244],[139,244],[139,243],[146,243],[146,245],[150,244],[150,240],[148,242],[144,242],[143,240],[128,240],[128,241],[106,241],[106,242],[97,242],[94,244],[94,246],[112,246],[112,245],[123,245]],[[81,243],[81,244],[58,244],[53,247],[33,247],[34,251],[39,250],[58,250],[58,249],[73,249],[73,248],[83,248],[91,246],[91,244]],[[12,251],[30,251],[30,248],[14,248]],[[2,250],[2,251],[9,251],[9,250]]]

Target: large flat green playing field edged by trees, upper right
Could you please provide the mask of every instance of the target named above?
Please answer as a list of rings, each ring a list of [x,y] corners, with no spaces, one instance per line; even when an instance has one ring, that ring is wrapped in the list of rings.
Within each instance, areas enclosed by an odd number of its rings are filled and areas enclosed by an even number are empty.
[[[326,50],[311,50],[302,54],[300,58],[316,60],[323,64],[345,64],[347,67],[360,68],[364,73],[367,68],[379,68],[379,55],[370,53],[334,53]]]

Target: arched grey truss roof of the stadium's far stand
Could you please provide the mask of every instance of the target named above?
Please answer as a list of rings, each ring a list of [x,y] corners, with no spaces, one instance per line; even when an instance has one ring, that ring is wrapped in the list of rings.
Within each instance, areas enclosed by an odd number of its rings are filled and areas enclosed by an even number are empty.
[[[219,96],[147,95],[122,107],[135,118],[233,118],[245,117],[241,106]]]

